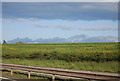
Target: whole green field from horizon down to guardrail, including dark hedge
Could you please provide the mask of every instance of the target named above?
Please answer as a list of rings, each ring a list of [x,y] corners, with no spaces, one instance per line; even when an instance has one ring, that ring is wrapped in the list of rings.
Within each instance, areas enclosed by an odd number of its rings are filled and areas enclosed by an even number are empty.
[[[119,72],[118,43],[3,44],[3,63]]]

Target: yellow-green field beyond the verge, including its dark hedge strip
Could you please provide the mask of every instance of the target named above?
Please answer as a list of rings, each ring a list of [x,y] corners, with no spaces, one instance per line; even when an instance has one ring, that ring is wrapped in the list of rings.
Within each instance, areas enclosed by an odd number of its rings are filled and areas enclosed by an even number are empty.
[[[118,43],[4,44],[3,58],[76,61],[119,61]]]

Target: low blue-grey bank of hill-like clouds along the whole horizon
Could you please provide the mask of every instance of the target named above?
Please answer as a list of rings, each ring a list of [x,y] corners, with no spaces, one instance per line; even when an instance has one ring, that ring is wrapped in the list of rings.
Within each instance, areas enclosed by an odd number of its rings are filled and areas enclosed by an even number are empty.
[[[13,40],[8,41],[7,43],[17,43],[17,42],[22,42],[22,43],[80,43],[80,42],[116,42],[118,40],[117,37],[113,36],[97,36],[97,37],[85,37],[84,35],[77,35],[77,36],[72,36],[69,38],[50,38],[50,39],[36,39],[32,40],[28,37],[26,38],[16,38]]]

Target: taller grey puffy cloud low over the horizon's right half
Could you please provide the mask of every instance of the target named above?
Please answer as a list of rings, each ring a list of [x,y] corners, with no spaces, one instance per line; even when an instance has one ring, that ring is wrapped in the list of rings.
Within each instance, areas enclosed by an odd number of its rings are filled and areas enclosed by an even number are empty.
[[[116,42],[118,41],[118,37],[114,36],[96,36],[89,37],[85,34],[74,35],[68,38],[68,40],[72,42]]]

